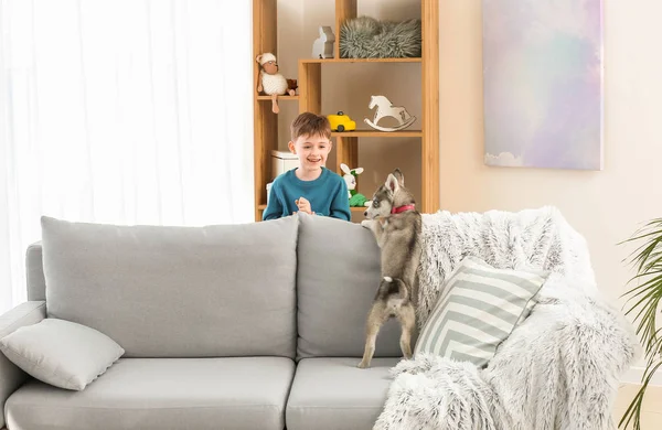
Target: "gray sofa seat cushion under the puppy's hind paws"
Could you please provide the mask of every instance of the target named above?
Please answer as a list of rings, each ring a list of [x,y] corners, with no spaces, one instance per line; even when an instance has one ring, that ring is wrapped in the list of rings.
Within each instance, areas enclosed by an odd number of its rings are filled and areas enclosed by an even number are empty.
[[[288,430],[366,430],[382,412],[393,380],[388,370],[401,358],[303,358],[287,401]]]

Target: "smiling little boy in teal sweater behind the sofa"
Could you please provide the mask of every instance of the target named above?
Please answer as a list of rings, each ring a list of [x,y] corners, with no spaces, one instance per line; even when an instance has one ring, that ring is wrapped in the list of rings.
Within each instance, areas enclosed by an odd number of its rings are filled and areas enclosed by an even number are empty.
[[[263,219],[306,212],[350,221],[348,185],[338,173],[324,168],[332,144],[327,117],[299,115],[292,122],[291,138],[288,147],[299,157],[299,166],[276,178]]]

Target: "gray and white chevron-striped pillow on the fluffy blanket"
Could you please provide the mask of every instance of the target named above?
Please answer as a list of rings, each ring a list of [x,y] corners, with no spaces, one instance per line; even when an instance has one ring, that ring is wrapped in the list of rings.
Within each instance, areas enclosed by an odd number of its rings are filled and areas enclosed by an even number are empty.
[[[474,257],[451,273],[414,355],[440,355],[484,367],[535,304],[548,272],[495,269]]]

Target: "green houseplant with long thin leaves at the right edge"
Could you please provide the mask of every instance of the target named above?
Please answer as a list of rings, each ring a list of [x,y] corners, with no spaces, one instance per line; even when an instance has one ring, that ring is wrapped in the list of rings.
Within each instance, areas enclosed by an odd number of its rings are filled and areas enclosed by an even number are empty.
[[[639,246],[630,255],[629,262],[637,273],[628,283],[637,283],[623,294],[628,298],[626,314],[636,313],[637,335],[645,353],[645,372],[637,396],[623,413],[619,428],[628,428],[632,422],[636,430],[641,429],[641,406],[645,389],[653,375],[662,366],[662,329],[658,329],[656,315],[662,300],[662,218],[655,218],[638,229],[634,235],[622,241],[637,243]]]

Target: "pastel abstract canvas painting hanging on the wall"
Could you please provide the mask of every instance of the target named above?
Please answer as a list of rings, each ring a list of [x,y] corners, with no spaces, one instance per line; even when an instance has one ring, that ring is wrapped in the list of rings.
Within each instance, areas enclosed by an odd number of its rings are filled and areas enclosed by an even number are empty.
[[[602,0],[483,0],[484,162],[602,169]]]

